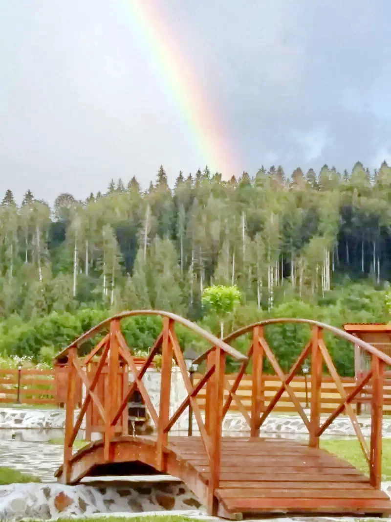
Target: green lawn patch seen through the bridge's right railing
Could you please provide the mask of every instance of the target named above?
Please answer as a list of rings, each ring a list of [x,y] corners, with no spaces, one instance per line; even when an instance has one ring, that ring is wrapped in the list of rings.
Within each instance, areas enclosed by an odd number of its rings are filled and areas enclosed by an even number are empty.
[[[369,446],[369,441],[366,441]],[[347,460],[366,475],[369,474],[368,464],[358,440],[321,440],[321,448],[337,457]],[[391,480],[391,439],[383,438],[382,449],[382,480]]]

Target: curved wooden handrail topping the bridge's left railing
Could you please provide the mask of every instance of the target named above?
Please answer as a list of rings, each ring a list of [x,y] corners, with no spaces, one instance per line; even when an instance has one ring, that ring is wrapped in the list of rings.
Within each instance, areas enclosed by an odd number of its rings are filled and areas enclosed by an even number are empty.
[[[230,357],[233,357],[237,361],[246,361],[247,357],[246,355],[243,355],[238,350],[235,350],[235,348],[230,347],[224,340],[218,339],[218,337],[211,334],[209,331],[204,330],[201,328],[201,326],[198,326],[195,323],[192,323],[188,319],[185,319],[184,317],[181,317],[180,315],[173,314],[171,312],[164,312],[162,310],[130,310],[127,312],[121,312],[120,314],[113,315],[112,317],[109,317],[99,323],[98,325],[94,326],[90,330],[86,331],[84,334],[82,334],[78,339],[76,339],[74,342],[72,342],[70,345],[68,345],[64,350],[59,352],[54,361],[58,361],[59,359],[63,359],[67,356],[68,350],[70,348],[80,348],[84,344],[84,342],[87,342],[89,339],[94,337],[96,334],[98,334],[103,328],[108,327],[109,324],[112,321],[125,319],[127,317],[133,317],[136,315],[153,315],[153,316],[160,316],[160,317],[167,317],[168,319],[172,319],[176,323],[181,324],[182,326],[185,326],[189,330],[193,331],[195,334],[198,334],[200,337],[204,338],[206,341],[209,341],[212,346],[215,346],[217,348],[221,348],[223,352],[225,352],[227,355],[230,355]]]

